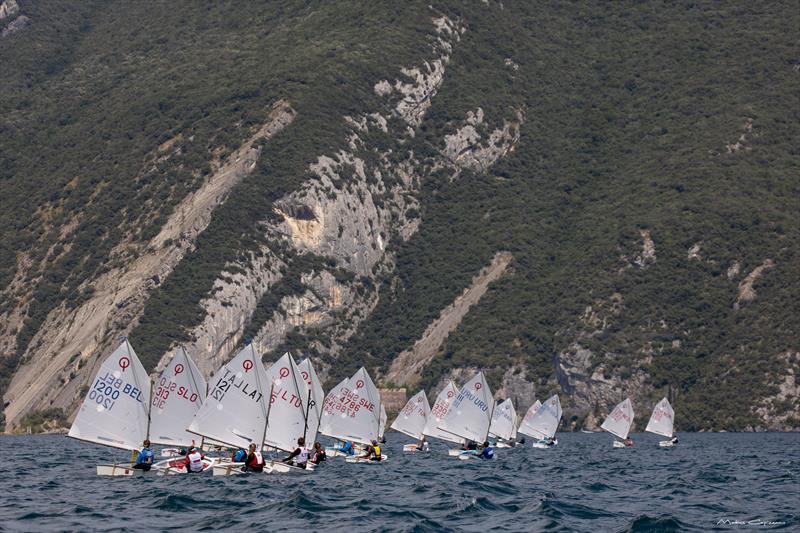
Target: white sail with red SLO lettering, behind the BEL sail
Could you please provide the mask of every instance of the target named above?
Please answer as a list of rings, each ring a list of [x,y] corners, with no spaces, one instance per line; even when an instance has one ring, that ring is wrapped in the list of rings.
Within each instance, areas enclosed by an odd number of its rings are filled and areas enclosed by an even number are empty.
[[[206,380],[181,346],[154,385],[150,441],[172,446],[194,442],[197,435],[185,428],[203,405],[205,396]]]

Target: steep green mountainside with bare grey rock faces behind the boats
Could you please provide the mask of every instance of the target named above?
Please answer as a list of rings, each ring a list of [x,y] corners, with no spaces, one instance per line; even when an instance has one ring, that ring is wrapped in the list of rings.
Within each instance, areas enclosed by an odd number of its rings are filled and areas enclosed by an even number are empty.
[[[13,4],[7,430],[121,335],[800,427],[791,3]]]

